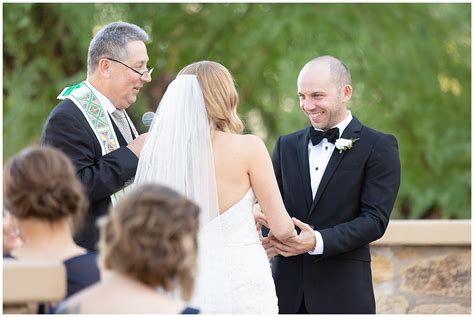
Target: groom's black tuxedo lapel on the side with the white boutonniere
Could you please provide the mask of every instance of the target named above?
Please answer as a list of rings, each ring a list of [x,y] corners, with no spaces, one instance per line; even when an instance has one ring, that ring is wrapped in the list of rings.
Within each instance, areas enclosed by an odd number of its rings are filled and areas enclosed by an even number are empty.
[[[353,117],[349,125],[344,129],[341,138],[357,139],[359,137],[361,128],[362,125],[359,120],[357,120],[356,117]],[[334,148],[334,152],[332,153],[331,158],[329,159],[328,165],[326,166],[326,170],[324,171],[323,177],[321,178],[321,182],[319,183],[318,191],[316,192],[316,196],[314,197],[313,203],[311,205],[308,218],[311,216],[313,210],[318,204],[318,201],[321,198],[324,190],[326,189],[326,186],[328,185],[329,181],[331,180],[332,175],[339,166],[339,163],[341,163],[344,154],[345,151],[339,153],[339,150],[337,148]]]

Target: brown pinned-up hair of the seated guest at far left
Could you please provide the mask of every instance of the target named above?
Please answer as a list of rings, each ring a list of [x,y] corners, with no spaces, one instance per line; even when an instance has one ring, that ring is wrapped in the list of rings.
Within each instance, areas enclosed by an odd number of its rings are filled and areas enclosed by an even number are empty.
[[[77,229],[88,207],[70,159],[48,146],[32,146],[10,158],[3,168],[3,190],[5,207],[19,219],[71,217]]]

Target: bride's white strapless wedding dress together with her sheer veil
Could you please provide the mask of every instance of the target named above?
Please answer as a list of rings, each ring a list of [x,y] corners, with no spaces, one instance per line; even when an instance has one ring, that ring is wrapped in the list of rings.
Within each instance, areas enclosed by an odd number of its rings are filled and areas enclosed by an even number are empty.
[[[191,306],[203,313],[278,313],[270,263],[258,237],[252,188],[219,214],[210,125],[194,75],[166,90],[140,154],[133,187],[169,186],[201,208]]]

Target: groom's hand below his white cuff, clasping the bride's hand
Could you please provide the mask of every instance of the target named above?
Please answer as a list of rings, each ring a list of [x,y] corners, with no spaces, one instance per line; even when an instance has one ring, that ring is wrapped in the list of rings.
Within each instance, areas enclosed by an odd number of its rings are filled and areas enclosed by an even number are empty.
[[[312,251],[316,248],[316,237],[313,229],[306,223],[292,218],[293,223],[301,229],[299,235],[291,237],[285,241],[271,239],[273,247],[284,257],[295,256]]]

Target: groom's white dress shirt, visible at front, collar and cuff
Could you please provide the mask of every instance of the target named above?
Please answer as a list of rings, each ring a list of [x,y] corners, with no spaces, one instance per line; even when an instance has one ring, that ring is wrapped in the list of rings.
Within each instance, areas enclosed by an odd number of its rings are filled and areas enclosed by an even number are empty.
[[[339,128],[339,137],[341,137],[344,129],[349,125],[352,120],[352,113],[347,110],[347,117],[336,124],[333,128]],[[332,152],[336,146],[324,138],[319,144],[313,145],[311,139],[308,142],[308,157],[309,157],[309,175],[311,178],[311,191],[313,193],[313,199],[318,191],[319,183],[323,178],[326,166],[329,163]],[[321,233],[314,230],[316,237],[316,248],[308,253],[311,255],[323,254],[324,252],[324,241]]]

